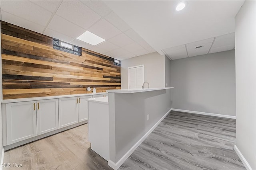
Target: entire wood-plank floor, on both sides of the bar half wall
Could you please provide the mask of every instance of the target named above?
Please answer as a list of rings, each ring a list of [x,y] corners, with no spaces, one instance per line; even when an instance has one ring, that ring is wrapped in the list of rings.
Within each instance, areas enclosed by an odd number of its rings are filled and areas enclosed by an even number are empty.
[[[233,150],[235,120],[172,111],[119,170],[245,170]],[[88,125],[29,143],[4,154],[11,169],[112,170],[90,149]]]

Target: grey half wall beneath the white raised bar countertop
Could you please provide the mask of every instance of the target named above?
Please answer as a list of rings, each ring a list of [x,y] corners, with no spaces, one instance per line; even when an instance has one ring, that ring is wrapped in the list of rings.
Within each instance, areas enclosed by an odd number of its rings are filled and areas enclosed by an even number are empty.
[[[108,93],[110,160],[118,162],[170,108],[173,89]],[[149,115],[149,120],[147,120]]]

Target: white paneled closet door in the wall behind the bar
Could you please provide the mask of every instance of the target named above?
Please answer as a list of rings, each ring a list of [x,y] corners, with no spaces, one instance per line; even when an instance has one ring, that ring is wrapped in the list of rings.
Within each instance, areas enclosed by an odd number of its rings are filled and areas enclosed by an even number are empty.
[[[144,65],[128,67],[128,88],[142,88],[144,83]]]

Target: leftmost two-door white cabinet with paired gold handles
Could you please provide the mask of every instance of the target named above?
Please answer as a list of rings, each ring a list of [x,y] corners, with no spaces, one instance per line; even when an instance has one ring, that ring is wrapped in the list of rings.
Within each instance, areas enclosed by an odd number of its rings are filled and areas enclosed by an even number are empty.
[[[58,99],[6,104],[7,144],[59,129]]]

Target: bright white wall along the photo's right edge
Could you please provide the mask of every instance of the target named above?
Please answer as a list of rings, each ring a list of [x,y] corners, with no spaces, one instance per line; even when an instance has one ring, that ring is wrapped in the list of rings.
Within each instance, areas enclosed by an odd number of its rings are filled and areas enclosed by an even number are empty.
[[[235,18],[236,146],[256,169],[256,3],[245,1]]]

